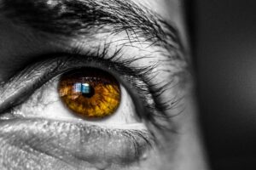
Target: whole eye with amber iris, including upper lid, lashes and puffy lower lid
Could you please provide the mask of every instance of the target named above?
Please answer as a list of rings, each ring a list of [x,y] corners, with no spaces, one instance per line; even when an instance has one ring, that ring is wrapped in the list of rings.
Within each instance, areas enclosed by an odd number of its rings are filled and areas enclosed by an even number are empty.
[[[160,111],[145,73],[154,67],[131,67],[135,60],[120,58],[119,50],[96,54],[47,54],[10,79],[1,119],[20,144],[100,167],[127,166],[153,150],[147,126]]]

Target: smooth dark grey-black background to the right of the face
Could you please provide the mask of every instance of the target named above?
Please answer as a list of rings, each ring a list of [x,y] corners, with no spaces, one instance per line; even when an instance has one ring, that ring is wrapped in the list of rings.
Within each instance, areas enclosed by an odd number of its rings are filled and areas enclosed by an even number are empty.
[[[213,170],[256,169],[256,1],[191,2],[201,122]]]

